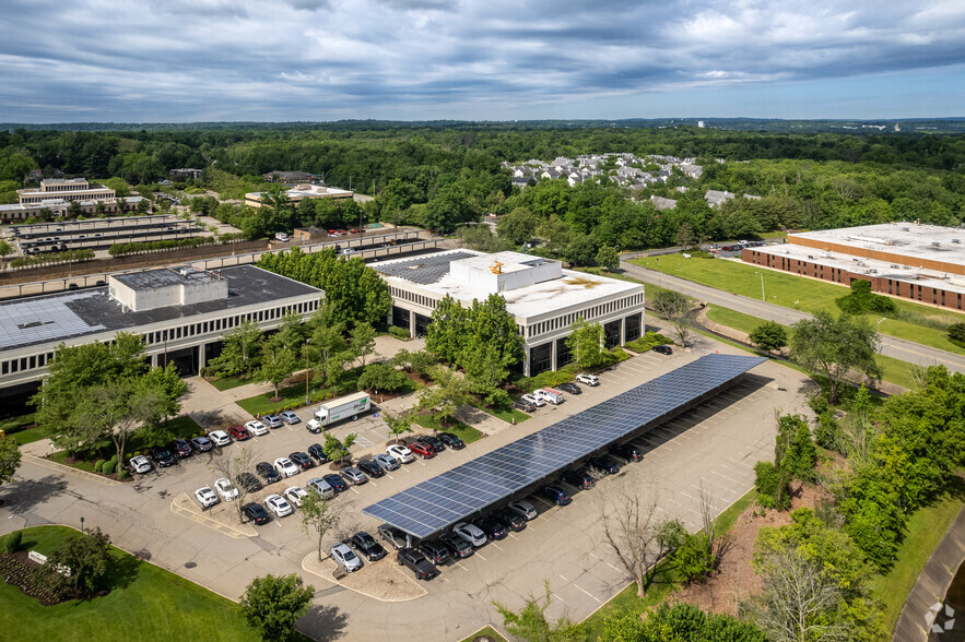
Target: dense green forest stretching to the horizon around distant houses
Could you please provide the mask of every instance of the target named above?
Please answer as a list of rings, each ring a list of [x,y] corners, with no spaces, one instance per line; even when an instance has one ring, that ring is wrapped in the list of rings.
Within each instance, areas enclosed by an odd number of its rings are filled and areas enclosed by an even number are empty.
[[[118,177],[152,191],[168,171],[205,169],[198,187],[222,199],[264,189],[273,170],[318,175],[327,185],[374,193],[363,218],[423,225],[446,234],[484,214],[499,235],[471,230],[473,245],[509,247],[537,235],[543,251],[591,262],[600,247],[672,245],[681,229],[694,239],[754,237],[777,228],[826,228],[894,219],[957,225],[965,217],[965,135],[920,132],[776,133],[695,127],[548,127],[513,123],[330,123],[141,131],[15,130],[0,132],[0,202],[33,169],[45,176]],[[697,180],[671,176],[628,198],[607,177],[569,187],[542,181],[521,192],[503,162],[552,160],[585,153],[627,152],[692,157]],[[190,187],[190,186],[179,186]],[[676,191],[686,187],[686,193]],[[709,207],[708,189],[754,194]],[[201,190],[197,190],[201,191]],[[672,197],[655,210],[650,195]],[[203,210],[260,236],[299,224],[348,225],[355,206],[276,202],[270,215],[199,199]],[[685,225],[684,225],[685,224]],[[486,236],[489,235],[489,237]],[[589,258],[589,260],[587,260]]]

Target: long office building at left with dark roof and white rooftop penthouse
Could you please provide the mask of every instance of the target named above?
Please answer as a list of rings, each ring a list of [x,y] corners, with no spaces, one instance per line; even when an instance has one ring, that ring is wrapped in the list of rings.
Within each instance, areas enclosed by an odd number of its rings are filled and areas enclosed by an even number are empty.
[[[0,302],[0,417],[24,411],[57,347],[144,337],[152,365],[197,373],[245,320],[273,330],[291,312],[318,309],[320,289],[239,265],[217,272],[185,266],[110,276],[105,286]]]

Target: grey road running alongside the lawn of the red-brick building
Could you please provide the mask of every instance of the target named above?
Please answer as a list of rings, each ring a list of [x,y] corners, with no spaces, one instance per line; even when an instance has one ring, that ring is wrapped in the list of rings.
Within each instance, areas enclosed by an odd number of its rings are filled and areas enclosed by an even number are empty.
[[[766,321],[777,321],[784,325],[790,325],[801,319],[811,318],[811,314],[808,312],[791,310],[790,308],[785,308],[775,304],[767,304],[750,297],[730,294],[707,285],[701,285],[699,283],[687,281],[686,278],[672,276],[670,274],[664,274],[663,272],[657,272],[656,270],[648,270],[647,268],[640,268],[639,265],[628,263],[626,260],[622,261],[620,266],[629,276],[639,278],[645,283],[652,283],[660,287],[670,287],[714,306],[730,308],[731,310],[737,310],[744,314],[751,314],[752,317],[757,317],[758,319],[764,319]],[[894,357],[919,366],[945,366],[950,371],[965,372],[965,356],[905,341],[887,334],[881,335],[881,354],[886,357]]]

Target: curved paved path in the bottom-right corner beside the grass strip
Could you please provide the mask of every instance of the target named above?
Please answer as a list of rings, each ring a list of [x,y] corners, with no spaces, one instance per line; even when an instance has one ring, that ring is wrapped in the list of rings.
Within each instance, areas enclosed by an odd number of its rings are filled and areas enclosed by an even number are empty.
[[[949,586],[958,567],[965,561],[965,508],[952,522],[949,532],[931,554],[928,563],[921,569],[918,581],[911,587],[892,642],[915,642],[928,639],[931,627],[929,614],[934,615],[932,606],[941,603],[949,592]],[[961,617],[961,616],[958,616]],[[949,638],[951,642],[952,638]]]

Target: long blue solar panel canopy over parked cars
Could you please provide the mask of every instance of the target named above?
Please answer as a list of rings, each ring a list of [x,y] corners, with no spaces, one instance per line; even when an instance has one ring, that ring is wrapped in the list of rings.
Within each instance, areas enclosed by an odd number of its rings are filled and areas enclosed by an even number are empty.
[[[678,414],[766,359],[714,354],[362,509],[427,537],[638,428]]]

